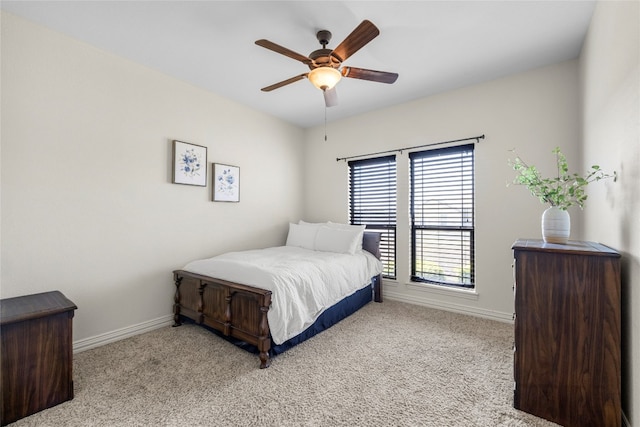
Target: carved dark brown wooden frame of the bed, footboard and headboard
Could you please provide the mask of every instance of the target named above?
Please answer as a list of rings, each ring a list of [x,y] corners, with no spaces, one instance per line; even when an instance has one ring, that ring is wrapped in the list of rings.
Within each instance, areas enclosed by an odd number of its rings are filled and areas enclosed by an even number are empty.
[[[363,241],[364,248],[379,258],[379,233],[367,232]],[[269,367],[271,335],[267,312],[271,291],[184,270],[175,270],[173,278],[174,326],[181,325],[184,316],[224,336],[251,344],[258,349],[260,368]],[[373,280],[373,284],[374,300],[382,302],[381,280]]]

